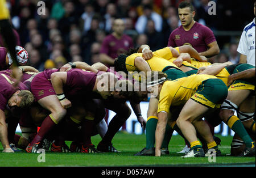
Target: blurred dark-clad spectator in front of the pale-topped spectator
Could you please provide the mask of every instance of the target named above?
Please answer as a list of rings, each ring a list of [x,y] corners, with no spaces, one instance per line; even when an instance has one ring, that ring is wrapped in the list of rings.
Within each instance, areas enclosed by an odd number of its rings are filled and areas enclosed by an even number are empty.
[[[157,32],[155,30],[155,23],[151,19],[147,20],[147,28],[145,34],[147,35],[148,39],[147,45],[150,46],[152,51],[161,49],[166,46],[163,43],[163,33]]]

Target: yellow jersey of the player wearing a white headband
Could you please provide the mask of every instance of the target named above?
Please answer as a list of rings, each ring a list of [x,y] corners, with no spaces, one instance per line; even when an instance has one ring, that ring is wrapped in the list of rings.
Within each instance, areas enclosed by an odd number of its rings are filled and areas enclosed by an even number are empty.
[[[167,112],[171,106],[185,104],[193,94],[195,94],[197,87],[207,79],[216,79],[214,75],[196,75],[183,77],[172,81],[166,81],[163,84],[159,95],[158,113]]]

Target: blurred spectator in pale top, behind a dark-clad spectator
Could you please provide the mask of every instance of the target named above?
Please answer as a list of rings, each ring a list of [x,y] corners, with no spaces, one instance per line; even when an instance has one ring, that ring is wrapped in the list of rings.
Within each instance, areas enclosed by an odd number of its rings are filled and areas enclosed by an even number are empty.
[[[135,29],[138,33],[144,33],[147,26],[147,20],[152,19],[155,23],[155,30],[157,32],[162,31],[163,26],[163,19],[162,16],[160,16],[158,13],[154,12],[152,10],[151,5],[144,5],[143,6],[143,15],[139,16],[136,24]]]

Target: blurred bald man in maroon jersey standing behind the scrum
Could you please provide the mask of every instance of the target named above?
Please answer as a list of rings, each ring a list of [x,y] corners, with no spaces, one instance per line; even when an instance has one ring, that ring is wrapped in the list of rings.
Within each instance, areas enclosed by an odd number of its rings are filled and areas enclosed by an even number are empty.
[[[113,66],[116,57],[134,46],[133,39],[123,34],[125,22],[122,19],[115,19],[112,28],[113,32],[105,37],[100,52],[100,60],[107,66]]]

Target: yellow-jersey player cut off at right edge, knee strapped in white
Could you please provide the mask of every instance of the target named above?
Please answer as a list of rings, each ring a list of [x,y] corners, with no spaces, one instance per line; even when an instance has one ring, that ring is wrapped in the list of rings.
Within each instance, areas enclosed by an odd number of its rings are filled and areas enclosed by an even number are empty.
[[[242,75],[241,79],[230,80],[230,75],[236,77],[239,76],[239,73],[248,70],[250,70],[249,78]],[[255,112],[255,67],[247,63],[229,66],[217,65],[199,70],[199,73],[215,75],[228,86],[228,97],[221,105],[220,118],[245,142],[246,147],[242,156],[254,156],[255,144],[245,128],[249,130],[248,132],[255,134],[255,121],[253,120]],[[236,111],[238,117],[234,115]]]

